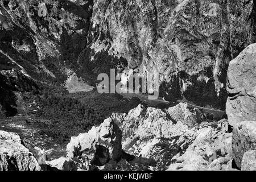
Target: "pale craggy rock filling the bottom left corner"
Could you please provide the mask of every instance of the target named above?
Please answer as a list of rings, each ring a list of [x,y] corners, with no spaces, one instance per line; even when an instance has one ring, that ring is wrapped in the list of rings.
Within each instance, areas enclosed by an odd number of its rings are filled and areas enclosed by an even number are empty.
[[[0,171],[40,171],[36,158],[18,135],[0,131]]]

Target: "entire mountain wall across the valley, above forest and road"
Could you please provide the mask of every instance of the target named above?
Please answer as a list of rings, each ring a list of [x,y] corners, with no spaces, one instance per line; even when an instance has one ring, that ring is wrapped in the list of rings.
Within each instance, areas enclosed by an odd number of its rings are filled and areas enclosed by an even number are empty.
[[[62,84],[99,73],[160,73],[160,96],[225,109],[229,61],[255,42],[255,3],[5,0],[1,69]],[[72,75],[71,74],[71,75]]]

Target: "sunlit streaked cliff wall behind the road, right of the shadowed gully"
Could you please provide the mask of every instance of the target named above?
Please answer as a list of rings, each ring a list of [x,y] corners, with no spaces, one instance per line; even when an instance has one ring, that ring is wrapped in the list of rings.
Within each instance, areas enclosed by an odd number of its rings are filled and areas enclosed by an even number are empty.
[[[229,61],[255,41],[254,9],[253,1],[94,1],[90,48],[160,73],[167,100],[224,109]]]

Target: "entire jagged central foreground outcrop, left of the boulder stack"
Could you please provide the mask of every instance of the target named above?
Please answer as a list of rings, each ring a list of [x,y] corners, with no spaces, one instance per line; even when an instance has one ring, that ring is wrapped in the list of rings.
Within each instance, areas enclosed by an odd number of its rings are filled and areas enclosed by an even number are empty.
[[[186,104],[167,110],[138,105],[127,115],[115,113],[101,126],[71,138],[68,161],[75,162],[79,170],[232,169],[228,121],[202,122],[201,117],[190,117],[195,127],[189,129],[186,119],[193,114],[195,110]],[[197,116],[200,115],[204,113],[198,110]],[[55,163],[55,167],[64,169],[67,158],[47,164],[54,167]]]

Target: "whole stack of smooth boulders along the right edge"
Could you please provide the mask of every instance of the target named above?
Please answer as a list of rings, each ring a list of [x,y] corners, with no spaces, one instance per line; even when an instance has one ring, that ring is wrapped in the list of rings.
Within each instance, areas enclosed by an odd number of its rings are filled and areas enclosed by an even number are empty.
[[[255,169],[256,157],[256,44],[246,47],[228,69],[226,113],[234,126],[232,155],[242,170]],[[252,155],[252,156],[250,156]]]

